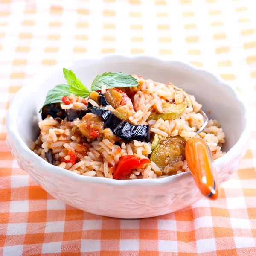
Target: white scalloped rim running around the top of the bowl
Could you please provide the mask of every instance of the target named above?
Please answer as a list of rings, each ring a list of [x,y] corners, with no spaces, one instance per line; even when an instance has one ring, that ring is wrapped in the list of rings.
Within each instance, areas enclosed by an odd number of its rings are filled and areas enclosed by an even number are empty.
[[[102,183],[102,184],[108,184],[108,185],[112,185],[112,186],[159,186],[159,185],[168,184],[170,182],[170,180],[175,179],[178,176],[185,177],[185,175],[191,175],[190,172],[184,172],[184,173],[172,175],[169,177],[159,178],[159,179],[137,179],[137,180],[113,180],[113,179],[108,179],[108,178],[104,178],[104,177],[88,177],[88,176],[84,176],[84,175],[77,175],[73,172],[70,172],[69,170],[62,169],[58,166],[51,165],[47,161],[43,160],[41,157],[39,157],[37,154],[35,154],[32,150],[30,150],[29,147],[25,144],[25,142],[21,139],[21,137],[17,131],[17,126],[14,125],[15,120],[10,118],[10,116],[12,116],[12,114],[14,114],[16,111],[15,102],[17,101],[17,99],[22,97],[23,93],[25,93],[26,90],[29,90],[29,87],[35,86],[35,84],[36,84],[35,81],[40,81],[40,79],[42,79],[46,73],[47,74],[54,73],[55,70],[58,70],[63,67],[66,67],[66,68],[72,67],[76,61],[106,60],[108,58],[111,58],[111,59],[113,59],[113,58],[116,58],[116,59],[129,58],[129,59],[133,59],[134,61],[136,61],[137,59],[145,59],[145,60],[151,59],[155,62],[164,63],[164,64],[176,63],[179,65],[182,65],[183,67],[188,68],[192,72],[195,72],[195,73],[201,72],[201,73],[207,74],[208,76],[211,76],[212,79],[216,79],[216,82],[218,82],[222,86],[229,87],[229,89],[233,91],[233,93],[236,96],[236,100],[244,106],[244,109],[246,112],[245,118],[244,118],[244,121],[245,121],[244,130],[242,131],[242,133],[239,137],[239,140],[237,140],[237,142],[233,145],[233,147],[230,148],[230,150],[224,156],[222,156],[214,161],[215,166],[218,166],[219,164],[224,163],[228,159],[233,158],[232,157],[233,153],[235,153],[237,150],[239,150],[240,145],[244,144],[243,142],[247,141],[248,138],[250,137],[249,107],[248,107],[247,103],[243,100],[242,95],[236,89],[234,89],[230,84],[228,84],[226,81],[224,81],[224,79],[221,79],[219,76],[217,76],[214,73],[211,73],[207,70],[204,70],[201,67],[196,67],[196,66],[194,66],[190,63],[187,63],[185,61],[180,61],[180,60],[175,60],[175,59],[165,60],[165,59],[161,59],[161,58],[157,58],[157,57],[153,57],[153,56],[147,56],[147,55],[135,55],[135,56],[107,55],[104,57],[94,56],[93,58],[76,58],[72,61],[67,61],[67,62],[57,64],[55,66],[52,66],[49,68],[49,70],[47,72],[44,72],[44,73],[32,78],[30,81],[28,81],[26,83],[26,85],[24,85],[15,94],[15,96],[12,99],[12,102],[9,106],[9,111],[8,111],[7,118],[6,118],[6,127],[7,127],[8,136],[12,140],[14,140],[15,147],[19,148],[23,152],[24,156],[27,159],[29,159],[30,161],[35,163],[36,166],[41,166],[41,168],[44,169],[44,171],[46,171],[48,173],[54,173],[55,175],[61,175],[63,177],[68,177],[73,180],[80,180],[80,181],[90,182],[90,183]]]

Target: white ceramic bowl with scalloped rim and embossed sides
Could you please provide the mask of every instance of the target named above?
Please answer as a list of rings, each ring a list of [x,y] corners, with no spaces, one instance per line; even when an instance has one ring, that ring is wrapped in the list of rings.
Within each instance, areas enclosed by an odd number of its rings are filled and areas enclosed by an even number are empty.
[[[180,61],[163,61],[140,56],[112,55],[98,59],[79,59],[52,67],[24,86],[14,97],[7,116],[7,143],[21,169],[55,198],[78,209],[116,218],[145,218],[187,207],[202,198],[189,172],[162,179],[111,180],[86,177],[53,166],[29,149],[38,131],[39,109],[47,91],[65,83],[62,68],[72,69],[90,86],[105,71],[137,74],[168,83],[194,94],[211,110],[226,134],[223,157],[215,160],[220,183],[238,169],[250,137],[247,106],[236,89],[198,67]]]

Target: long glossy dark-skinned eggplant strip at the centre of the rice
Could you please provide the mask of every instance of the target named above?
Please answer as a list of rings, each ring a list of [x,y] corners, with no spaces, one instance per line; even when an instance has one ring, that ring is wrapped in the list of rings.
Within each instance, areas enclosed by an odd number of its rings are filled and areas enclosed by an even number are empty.
[[[150,141],[149,125],[131,125],[104,108],[91,108],[90,112],[101,116],[106,127],[110,128],[113,134],[122,140]]]

